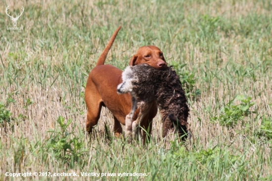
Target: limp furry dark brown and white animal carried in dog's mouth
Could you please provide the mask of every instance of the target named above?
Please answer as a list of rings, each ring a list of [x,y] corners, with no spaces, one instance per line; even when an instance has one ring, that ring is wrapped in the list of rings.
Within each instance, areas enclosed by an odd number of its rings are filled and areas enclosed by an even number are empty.
[[[191,137],[187,123],[189,115],[187,99],[181,88],[179,76],[172,66],[164,70],[155,69],[147,64],[129,66],[122,73],[122,79],[123,82],[118,85],[117,92],[120,94],[129,92],[133,96],[133,107],[129,116],[131,120],[130,122],[126,120],[127,136],[130,136],[132,131],[134,138],[139,134],[138,125],[155,99],[163,121],[163,137],[169,130],[174,129],[174,125],[183,139]],[[140,107],[140,113],[137,120],[132,122],[137,107]],[[127,121],[132,125],[127,125]]]

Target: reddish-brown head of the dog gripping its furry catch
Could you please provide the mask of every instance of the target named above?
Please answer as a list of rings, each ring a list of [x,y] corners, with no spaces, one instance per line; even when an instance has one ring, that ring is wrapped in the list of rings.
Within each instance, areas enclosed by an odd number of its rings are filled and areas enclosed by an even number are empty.
[[[167,68],[163,52],[157,46],[142,46],[132,57],[130,66],[146,63],[156,69]]]

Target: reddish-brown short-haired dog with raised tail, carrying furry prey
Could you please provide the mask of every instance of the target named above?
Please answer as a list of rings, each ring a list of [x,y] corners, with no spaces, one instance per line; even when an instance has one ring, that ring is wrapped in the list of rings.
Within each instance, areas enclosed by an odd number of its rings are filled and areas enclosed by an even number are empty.
[[[112,66],[104,65],[106,56],[117,36],[121,26],[114,32],[108,45],[97,60],[96,66],[91,70],[86,90],[85,101],[88,108],[86,129],[91,134],[93,126],[95,126],[100,117],[101,107],[107,107],[113,114],[114,133],[119,137],[122,134],[122,125],[126,123],[126,116],[132,109],[132,96],[128,93],[118,94],[117,86],[122,83],[122,70]],[[149,64],[157,69],[167,67],[162,51],[156,46],[142,46],[132,57],[130,65],[138,65],[141,63]],[[140,126],[152,130],[152,120],[158,111],[156,102],[153,102],[148,114],[141,121]],[[133,120],[137,119],[139,110],[137,109]],[[121,124],[120,124],[121,123]],[[146,133],[143,133],[143,143],[145,142]]]

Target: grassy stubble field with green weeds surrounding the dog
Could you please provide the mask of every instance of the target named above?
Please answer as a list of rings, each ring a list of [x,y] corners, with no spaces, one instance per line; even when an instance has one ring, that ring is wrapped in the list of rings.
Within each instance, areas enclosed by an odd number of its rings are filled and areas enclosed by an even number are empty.
[[[24,7],[23,30],[8,30],[7,5]],[[106,63],[124,70],[158,46],[186,91],[191,144],[163,139],[159,114],[145,147],[127,144],[106,108],[88,140],[87,78],[120,25]],[[0,180],[272,180],[271,1],[2,0],[0,27]]]

